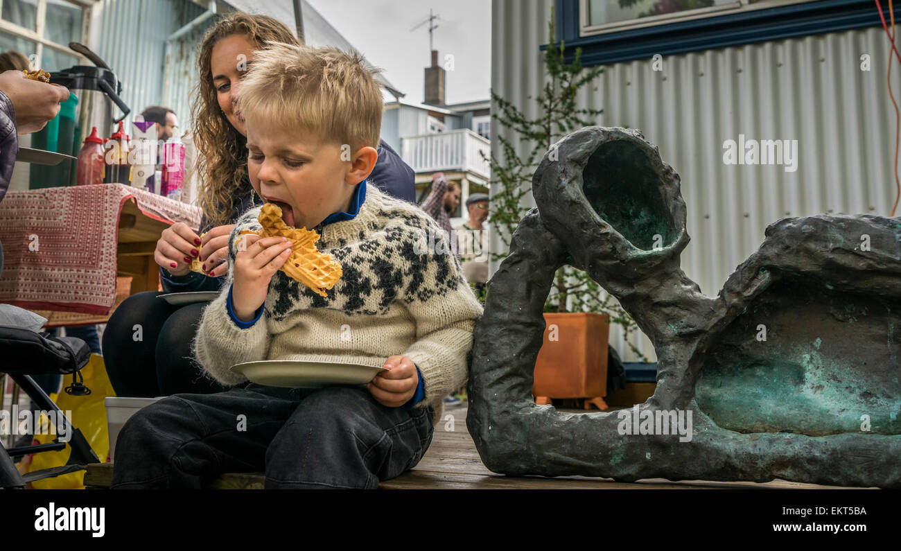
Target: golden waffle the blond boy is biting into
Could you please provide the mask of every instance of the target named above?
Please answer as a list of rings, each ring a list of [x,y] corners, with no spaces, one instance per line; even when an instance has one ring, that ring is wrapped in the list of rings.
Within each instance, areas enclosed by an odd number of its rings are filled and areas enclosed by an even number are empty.
[[[256,233],[260,237],[285,237],[291,239],[291,256],[280,269],[287,276],[313,289],[316,293],[327,296],[325,291],[331,289],[341,279],[341,264],[332,255],[323,254],[316,249],[319,234],[314,230],[296,230],[287,226],[281,218],[281,209],[277,204],[266,203],[259,211],[259,223],[262,230],[243,230],[245,233]]]

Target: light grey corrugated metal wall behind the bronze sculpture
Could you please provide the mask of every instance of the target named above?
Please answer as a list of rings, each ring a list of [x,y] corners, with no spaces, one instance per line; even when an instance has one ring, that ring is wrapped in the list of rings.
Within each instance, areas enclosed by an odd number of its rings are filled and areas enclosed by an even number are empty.
[[[539,47],[547,42],[551,4],[493,0],[491,86],[528,116],[536,110],[527,96],[542,86]],[[860,68],[863,54],[870,56],[869,71]],[[607,66],[596,89],[580,95],[579,107],[604,109],[598,124],[641,129],[681,176],[692,238],[682,269],[714,295],[779,218],[889,215],[895,113],[887,62],[879,27],[669,56],[660,72],[642,59]],[[897,65],[892,77],[898,95]],[[493,125],[492,131],[505,129]],[[797,140],[796,171],[724,165],[724,140],[739,134]],[[497,140],[492,143],[499,155]],[[635,342],[654,358],[646,338]],[[625,361],[635,361],[618,327],[611,344]]]

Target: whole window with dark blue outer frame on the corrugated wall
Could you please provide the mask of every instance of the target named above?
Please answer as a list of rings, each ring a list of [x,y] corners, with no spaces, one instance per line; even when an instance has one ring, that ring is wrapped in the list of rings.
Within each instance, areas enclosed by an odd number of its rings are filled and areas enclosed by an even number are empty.
[[[580,49],[585,67],[881,25],[872,0],[555,0],[555,6],[564,61]]]

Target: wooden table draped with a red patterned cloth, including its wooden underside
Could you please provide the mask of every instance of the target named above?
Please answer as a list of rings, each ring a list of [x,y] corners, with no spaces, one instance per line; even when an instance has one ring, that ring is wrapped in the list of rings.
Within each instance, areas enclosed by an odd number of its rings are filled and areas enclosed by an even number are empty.
[[[7,194],[0,301],[39,313],[47,328],[105,323],[127,296],[161,290],[153,251],[163,230],[200,219],[196,206],[128,185]],[[35,236],[40,249],[32,251]]]

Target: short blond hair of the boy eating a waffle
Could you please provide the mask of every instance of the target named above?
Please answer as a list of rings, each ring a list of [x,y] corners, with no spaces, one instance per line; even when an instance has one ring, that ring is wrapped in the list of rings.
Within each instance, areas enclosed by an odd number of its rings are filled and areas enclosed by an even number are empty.
[[[378,148],[382,94],[357,52],[270,43],[241,83],[238,105],[248,121],[298,128],[352,150]],[[252,122],[249,122],[252,124]]]

